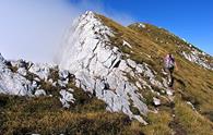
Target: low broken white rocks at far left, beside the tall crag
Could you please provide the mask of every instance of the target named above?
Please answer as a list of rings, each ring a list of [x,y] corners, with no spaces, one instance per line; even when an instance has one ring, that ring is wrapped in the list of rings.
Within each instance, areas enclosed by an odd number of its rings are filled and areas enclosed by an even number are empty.
[[[68,86],[71,77],[68,71],[59,70],[57,65],[34,64],[24,60],[7,61],[0,54],[0,94],[52,97],[49,93],[52,90],[58,93],[54,98],[57,96],[62,106],[69,108],[75,100],[72,95],[74,90]]]

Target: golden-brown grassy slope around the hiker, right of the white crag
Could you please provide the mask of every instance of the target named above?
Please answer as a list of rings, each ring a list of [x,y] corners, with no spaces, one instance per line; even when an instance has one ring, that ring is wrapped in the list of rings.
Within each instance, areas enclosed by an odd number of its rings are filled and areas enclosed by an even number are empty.
[[[184,59],[179,52],[188,50],[188,44],[169,32],[146,24],[139,29],[135,25],[123,27],[116,22],[98,15],[98,17],[116,32],[113,44],[138,63],[146,62],[155,71],[163,69],[163,58],[166,53],[175,54],[178,71],[175,71],[175,107],[165,103],[159,108],[158,114],[149,114],[150,125],[142,127],[146,134],[213,134],[213,72]],[[132,48],[123,47],[122,40],[128,41]],[[180,47],[178,47],[180,46]],[[150,57],[149,57],[150,56]],[[212,58],[208,58],[213,61]],[[149,95],[144,91],[142,95]],[[196,106],[198,112],[186,102]],[[175,113],[175,119],[171,116]]]

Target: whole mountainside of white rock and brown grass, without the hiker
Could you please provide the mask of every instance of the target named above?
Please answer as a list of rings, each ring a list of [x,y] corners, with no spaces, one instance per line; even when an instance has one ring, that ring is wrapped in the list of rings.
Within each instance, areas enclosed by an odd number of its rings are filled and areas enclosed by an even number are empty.
[[[178,65],[174,96],[168,52]],[[213,58],[168,30],[86,12],[58,56],[58,66],[0,57],[0,133],[213,133]]]

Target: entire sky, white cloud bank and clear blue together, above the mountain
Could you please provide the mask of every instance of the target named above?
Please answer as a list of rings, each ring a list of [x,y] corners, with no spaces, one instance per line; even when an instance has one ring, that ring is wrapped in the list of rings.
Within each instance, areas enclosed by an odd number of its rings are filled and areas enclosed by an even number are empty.
[[[213,54],[211,0],[0,0],[0,52],[7,59],[52,62],[71,22],[86,10],[123,25],[167,28]]]

